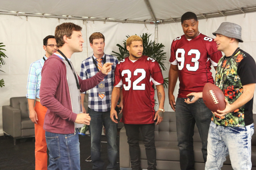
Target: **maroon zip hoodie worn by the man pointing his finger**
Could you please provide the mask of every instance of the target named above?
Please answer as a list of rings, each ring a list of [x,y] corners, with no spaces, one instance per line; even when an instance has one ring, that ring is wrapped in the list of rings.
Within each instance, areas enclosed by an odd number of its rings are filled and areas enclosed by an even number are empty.
[[[40,102],[47,107],[44,130],[59,134],[74,133],[74,121],[77,114],[72,112],[66,64],[57,55],[53,54],[45,61],[41,74]],[[105,76],[106,74],[101,71],[86,80],[82,80],[78,76],[81,92],[93,88]]]

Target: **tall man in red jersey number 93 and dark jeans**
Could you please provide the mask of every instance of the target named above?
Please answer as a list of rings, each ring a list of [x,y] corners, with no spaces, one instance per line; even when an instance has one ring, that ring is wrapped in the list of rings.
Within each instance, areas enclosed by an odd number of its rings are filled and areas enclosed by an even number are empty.
[[[211,122],[211,111],[202,100],[206,83],[214,83],[211,65],[215,67],[221,52],[212,38],[198,31],[197,17],[186,12],[181,17],[184,35],[173,40],[169,70],[169,103],[176,112],[180,168],[194,169],[193,135],[195,123],[202,141],[204,162],[207,158],[207,136]],[[175,102],[173,91],[179,77],[179,93]],[[193,100],[187,99],[195,96]]]

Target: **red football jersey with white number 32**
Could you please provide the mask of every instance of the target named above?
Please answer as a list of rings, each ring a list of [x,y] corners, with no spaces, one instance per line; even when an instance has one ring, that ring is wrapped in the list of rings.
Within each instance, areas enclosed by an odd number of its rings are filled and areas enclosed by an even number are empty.
[[[163,84],[159,64],[154,59],[142,56],[132,62],[126,57],[116,65],[115,87],[123,86],[123,116],[126,124],[154,123],[155,101],[153,84]]]

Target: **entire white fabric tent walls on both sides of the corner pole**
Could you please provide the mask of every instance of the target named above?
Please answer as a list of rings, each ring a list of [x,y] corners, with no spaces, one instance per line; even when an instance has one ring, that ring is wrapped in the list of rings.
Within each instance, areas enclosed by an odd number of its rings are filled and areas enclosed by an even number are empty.
[[[209,37],[214,38],[212,32],[216,31],[221,22],[234,22],[242,27],[242,39],[244,43],[239,43],[239,47],[251,54],[256,59],[256,52],[253,50],[256,46],[256,33],[254,31],[255,23],[251,22],[252,18],[256,18],[256,12],[234,15],[228,17],[219,17],[199,20],[199,31]],[[55,27],[63,22],[73,22],[80,25],[85,42],[83,43],[83,52],[73,54],[71,61],[77,72],[80,71],[81,62],[93,54],[89,44],[89,36],[93,32],[101,32],[105,36],[105,53],[112,54],[112,50],[118,51],[116,44],[122,44],[126,39],[126,35],[141,35],[142,33],[151,33],[151,39],[155,37],[155,25],[148,25],[147,28],[144,24],[132,23],[114,23],[86,21],[83,24],[81,20],[64,20],[54,18],[39,18],[17,17],[10,15],[0,15],[0,42],[6,45],[7,50],[5,54],[9,58],[5,58],[6,65],[2,67],[5,73],[0,72],[0,79],[4,79],[5,86],[0,88],[0,135],[3,134],[2,130],[2,106],[9,105],[10,97],[18,97],[26,95],[27,75],[31,62],[36,61],[44,56],[45,51],[42,48],[42,40],[47,35],[54,35]],[[183,35],[180,23],[169,23],[158,25],[158,43],[165,45],[167,53],[166,68],[167,71],[163,72],[163,76],[168,77],[168,68],[170,66],[168,60],[170,56],[170,46],[172,40],[178,36]],[[215,71],[214,71],[215,72]],[[214,75],[214,74],[213,74]],[[175,97],[178,93],[178,83],[175,89]],[[172,111],[168,101],[168,90],[165,89],[165,110]],[[256,99],[254,99],[256,102]],[[254,102],[254,113],[256,106]]]

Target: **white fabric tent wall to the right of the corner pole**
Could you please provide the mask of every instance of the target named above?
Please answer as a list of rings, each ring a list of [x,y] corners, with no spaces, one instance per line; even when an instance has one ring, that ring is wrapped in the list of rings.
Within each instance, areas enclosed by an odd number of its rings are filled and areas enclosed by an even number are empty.
[[[252,18],[256,17],[256,12],[253,13],[247,13],[246,15],[240,14],[240,15],[233,15],[233,16],[227,16],[227,17],[218,17],[218,18],[210,18],[210,19],[202,19],[199,20],[199,32],[201,32],[204,35],[207,35],[209,37],[215,38],[214,35],[212,35],[212,32],[215,32],[220,24],[222,22],[233,22],[236,24],[239,24],[242,27],[242,39],[243,43],[239,43],[239,47],[249,53],[254,60],[256,60],[256,32],[255,32],[255,22],[252,22]],[[169,24],[161,24],[158,25],[158,33],[157,33],[157,42],[161,42],[165,45],[164,51],[167,52],[168,60],[170,58],[170,47],[172,44],[172,41],[174,38],[179,37],[183,35],[183,30],[181,27],[181,23],[169,23]],[[167,61],[165,64],[165,67],[169,68],[170,63]],[[215,70],[211,70],[213,72],[213,77],[215,77]],[[164,77],[168,77],[167,71],[163,72]],[[174,96],[175,98],[178,95],[178,89],[179,89],[179,81],[177,81],[175,90],[174,90]],[[255,95],[255,92],[254,92]],[[254,97],[254,104],[253,104],[253,112],[256,113],[256,97]],[[172,108],[169,105],[168,100],[168,89],[165,89],[165,110],[167,111],[173,111]]]

